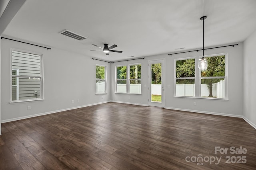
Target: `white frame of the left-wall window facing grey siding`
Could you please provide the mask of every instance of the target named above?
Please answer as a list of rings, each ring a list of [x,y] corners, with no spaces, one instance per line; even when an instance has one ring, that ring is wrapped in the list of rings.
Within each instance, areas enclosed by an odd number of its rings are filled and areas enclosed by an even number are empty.
[[[12,75],[12,51],[17,51],[17,52],[21,52],[21,53],[29,53],[29,54],[34,54],[34,55],[39,55],[40,56],[40,76],[20,76],[20,75]],[[43,55],[41,53],[38,52],[34,52],[34,51],[26,51],[26,50],[21,50],[21,49],[10,49],[10,104],[15,104],[15,103],[21,103],[21,102],[34,102],[34,101],[40,101],[40,100],[44,100],[44,86],[43,86],[43,82],[44,82],[44,73],[43,73]],[[26,99],[26,100],[12,100],[12,78],[16,77],[17,80],[19,78],[32,78],[32,79],[40,79],[40,98],[32,98],[32,99]],[[17,92],[18,93],[18,92]]]

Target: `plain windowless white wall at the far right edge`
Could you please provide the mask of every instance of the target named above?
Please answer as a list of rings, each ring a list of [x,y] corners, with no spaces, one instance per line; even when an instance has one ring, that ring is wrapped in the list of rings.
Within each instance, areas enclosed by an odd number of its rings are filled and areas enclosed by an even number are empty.
[[[256,31],[244,41],[244,117],[256,128]]]

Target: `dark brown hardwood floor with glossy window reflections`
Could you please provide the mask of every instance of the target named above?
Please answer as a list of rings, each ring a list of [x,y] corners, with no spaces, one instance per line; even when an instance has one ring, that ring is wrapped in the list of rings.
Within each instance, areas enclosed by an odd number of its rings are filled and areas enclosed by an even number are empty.
[[[3,123],[0,170],[14,169],[255,170],[256,129],[242,118],[110,102]]]

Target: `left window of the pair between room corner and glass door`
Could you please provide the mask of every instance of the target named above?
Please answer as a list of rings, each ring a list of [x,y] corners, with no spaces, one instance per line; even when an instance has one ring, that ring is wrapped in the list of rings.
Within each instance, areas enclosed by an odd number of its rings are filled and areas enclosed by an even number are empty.
[[[127,66],[116,67],[116,92],[117,93],[127,92],[126,70],[127,70]]]

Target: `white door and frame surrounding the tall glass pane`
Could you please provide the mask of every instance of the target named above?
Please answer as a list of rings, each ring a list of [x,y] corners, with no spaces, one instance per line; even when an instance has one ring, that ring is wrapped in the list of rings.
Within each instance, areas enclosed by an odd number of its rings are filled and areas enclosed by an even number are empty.
[[[161,63],[162,80],[162,102],[151,102],[151,64]],[[148,106],[165,107],[165,59],[148,61]]]

